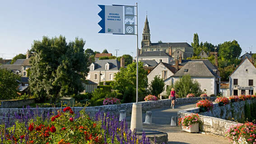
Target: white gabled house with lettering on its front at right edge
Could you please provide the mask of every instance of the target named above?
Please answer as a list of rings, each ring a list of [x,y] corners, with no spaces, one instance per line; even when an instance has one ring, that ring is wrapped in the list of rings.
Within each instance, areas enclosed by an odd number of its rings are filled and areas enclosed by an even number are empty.
[[[256,67],[246,57],[229,75],[230,95],[253,95],[256,92]]]

